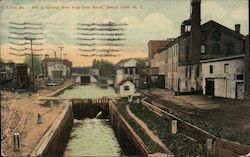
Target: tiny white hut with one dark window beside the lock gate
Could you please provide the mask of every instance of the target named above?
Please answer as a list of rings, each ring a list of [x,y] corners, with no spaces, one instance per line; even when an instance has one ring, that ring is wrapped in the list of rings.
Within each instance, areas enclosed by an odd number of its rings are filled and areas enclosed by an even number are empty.
[[[129,79],[123,79],[118,83],[118,91],[121,96],[134,95],[136,92],[135,84]]]

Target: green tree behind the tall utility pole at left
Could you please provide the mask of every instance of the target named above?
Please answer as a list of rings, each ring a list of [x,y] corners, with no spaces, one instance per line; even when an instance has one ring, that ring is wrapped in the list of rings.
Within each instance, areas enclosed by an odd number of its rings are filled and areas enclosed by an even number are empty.
[[[41,58],[39,56],[34,56],[33,57],[33,61],[34,61],[34,74],[35,77],[37,77],[39,74],[42,73],[42,69],[41,69]],[[26,56],[24,58],[24,63],[28,64],[30,70],[32,69],[32,56]]]

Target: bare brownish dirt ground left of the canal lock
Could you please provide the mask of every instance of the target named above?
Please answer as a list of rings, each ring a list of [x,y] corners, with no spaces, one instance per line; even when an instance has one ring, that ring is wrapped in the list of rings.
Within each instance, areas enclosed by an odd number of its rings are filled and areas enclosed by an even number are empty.
[[[36,146],[47,128],[54,122],[67,101],[59,101],[51,107],[38,104],[41,96],[61,88],[61,86],[40,89],[37,93],[13,93],[4,91],[1,106],[1,150],[7,156],[27,156]],[[42,124],[37,123],[37,114],[42,115]],[[20,151],[14,151],[13,134],[20,133]]]

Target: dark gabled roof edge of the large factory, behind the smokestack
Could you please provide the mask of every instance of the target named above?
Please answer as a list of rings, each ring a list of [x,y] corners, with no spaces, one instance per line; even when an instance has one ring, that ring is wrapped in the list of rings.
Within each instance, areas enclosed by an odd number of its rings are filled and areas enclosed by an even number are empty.
[[[215,27],[217,27],[218,29],[220,29],[221,31],[227,33],[227,34],[230,34],[236,38],[240,38],[240,39],[243,39],[245,36],[238,33],[238,32],[235,32],[234,30],[228,28],[228,27],[225,27],[221,24],[219,24],[218,22],[215,22],[213,20],[210,20],[204,24],[201,25],[201,30],[204,29],[205,27],[208,27],[208,26],[211,26],[211,25],[214,25]],[[177,38],[175,38],[172,42],[169,42],[167,43],[166,45],[164,45],[163,47],[159,48],[158,49],[158,53],[161,53],[162,51],[168,49],[169,47],[173,46],[174,44],[178,43],[180,40],[182,39],[185,39],[187,37],[190,36],[190,32],[185,32],[183,34],[181,34],[180,36],[178,36]]]

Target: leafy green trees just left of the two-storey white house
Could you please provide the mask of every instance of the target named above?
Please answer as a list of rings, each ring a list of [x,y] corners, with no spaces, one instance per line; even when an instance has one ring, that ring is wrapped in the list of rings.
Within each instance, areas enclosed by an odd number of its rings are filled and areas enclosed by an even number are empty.
[[[96,60],[92,62],[92,68],[99,70],[100,77],[109,77],[115,73],[115,66],[108,60]]]

